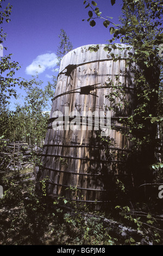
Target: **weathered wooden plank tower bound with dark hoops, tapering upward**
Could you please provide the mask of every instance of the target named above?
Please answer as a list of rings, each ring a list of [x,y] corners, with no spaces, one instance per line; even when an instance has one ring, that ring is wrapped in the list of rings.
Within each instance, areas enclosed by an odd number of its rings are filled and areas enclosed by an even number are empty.
[[[134,75],[126,66],[133,48],[115,44],[108,53],[105,45],[96,51],[90,46],[72,50],[61,60],[40,179],[48,176],[48,194],[103,203],[109,199],[111,176],[126,175],[117,164],[124,166],[121,156],[130,141],[120,132],[118,118],[130,115],[135,104]],[[126,90],[128,106],[116,94],[120,87]],[[71,187],[77,189],[73,197]]]

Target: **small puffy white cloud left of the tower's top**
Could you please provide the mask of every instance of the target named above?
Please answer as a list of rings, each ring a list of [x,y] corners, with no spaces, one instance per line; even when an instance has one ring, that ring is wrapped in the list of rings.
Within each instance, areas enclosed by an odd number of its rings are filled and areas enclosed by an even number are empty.
[[[36,72],[41,74],[46,69],[54,68],[57,64],[57,56],[55,53],[45,53],[37,56],[33,62],[27,66],[26,74],[35,75]]]

